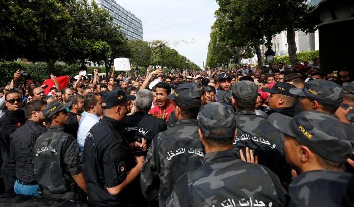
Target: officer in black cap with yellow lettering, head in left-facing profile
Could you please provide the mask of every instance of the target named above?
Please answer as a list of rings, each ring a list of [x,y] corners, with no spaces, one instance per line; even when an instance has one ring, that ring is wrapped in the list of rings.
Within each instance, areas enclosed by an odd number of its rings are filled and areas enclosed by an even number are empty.
[[[290,83],[277,82],[272,88],[262,88],[263,92],[271,93],[268,97],[269,108],[267,115],[274,112],[294,117],[297,112],[295,105],[298,102],[298,96],[289,93],[291,88],[296,88]]]

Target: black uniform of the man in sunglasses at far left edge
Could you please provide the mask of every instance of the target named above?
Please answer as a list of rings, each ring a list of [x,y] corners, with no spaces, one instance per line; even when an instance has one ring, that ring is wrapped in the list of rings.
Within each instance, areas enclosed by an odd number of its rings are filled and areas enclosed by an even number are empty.
[[[16,181],[16,165],[10,158],[10,141],[14,131],[25,123],[25,113],[23,110],[11,112],[8,109],[0,118],[0,146],[1,146],[1,175],[4,180],[5,192],[14,192]]]

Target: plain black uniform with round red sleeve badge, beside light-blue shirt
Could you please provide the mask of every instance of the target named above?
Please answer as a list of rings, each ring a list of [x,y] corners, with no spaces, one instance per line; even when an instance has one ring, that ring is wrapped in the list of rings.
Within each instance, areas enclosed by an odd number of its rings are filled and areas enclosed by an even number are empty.
[[[128,189],[111,195],[106,188],[121,184],[135,166],[129,159],[129,144],[123,136],[124,124],[104,116],[91,129],[84,145],[82,170],[87,182],[89,203],[102,206],[126,206]]]

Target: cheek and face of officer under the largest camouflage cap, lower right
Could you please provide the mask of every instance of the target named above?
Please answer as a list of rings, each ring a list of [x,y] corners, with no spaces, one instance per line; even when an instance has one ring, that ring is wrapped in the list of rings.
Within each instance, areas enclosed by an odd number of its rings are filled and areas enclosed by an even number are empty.
[[[284,141],[284,150],[285,150],[285,158],[286,161],[292,166],[299,166],[299,161],[301,160],[299,157],[299,149],[294,137],[289,135],[285,135],[283,138]]]

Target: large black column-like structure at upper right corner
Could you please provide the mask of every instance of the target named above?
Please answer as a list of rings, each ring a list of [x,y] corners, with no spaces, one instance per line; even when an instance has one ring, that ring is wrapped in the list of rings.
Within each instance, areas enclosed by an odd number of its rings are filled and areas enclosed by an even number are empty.
[[[321,71],[352,68],[354,1],[322,0],[313,13],[319,29]]]

